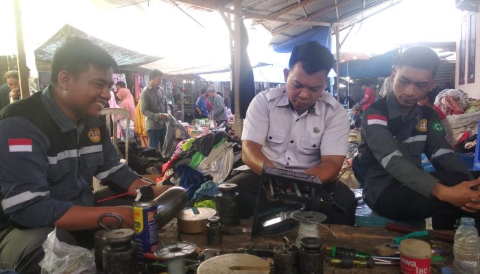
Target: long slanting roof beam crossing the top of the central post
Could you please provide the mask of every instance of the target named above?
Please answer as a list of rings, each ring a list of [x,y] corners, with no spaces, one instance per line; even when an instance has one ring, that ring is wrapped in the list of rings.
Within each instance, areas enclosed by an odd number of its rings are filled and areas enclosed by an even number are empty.
[[[197,3],[195,0],[176,0],[177,2],[186,3],[189,5],[195,5],[195,7],[204,8],[207,10],[218,10],[219,12],[226,12],[226,13],[234,13],[229,8],[221,7],[221,6],[214,6],[208,3]],[[349,0],[350,1],[350,0]],[[275,16],[269,16],[265,14],[258,14],[255,12],[249,12],[247,10],[242,10],[242,15],[246,18],[252,18],[257,20],[266,20],[266,21],[276,21],[276,22],[283,22],[289,23],[292,25],[316,25],[316,26],[329,26],[330,24],[324,22],[310,22],[310,21],[298,21],[296,19],[287,19],[287,18],[278,18]]]

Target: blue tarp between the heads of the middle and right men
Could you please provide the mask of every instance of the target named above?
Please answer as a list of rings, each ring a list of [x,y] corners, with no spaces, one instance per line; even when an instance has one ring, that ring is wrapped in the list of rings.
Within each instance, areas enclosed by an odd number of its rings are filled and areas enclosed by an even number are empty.
[[[381,55],[376,55],[369,60],[353,60],[340,64],[341,77],[387,77],[392,73],[392,65],[399,49],[387,51]],[[335,67],[334,67],[335,68]]]

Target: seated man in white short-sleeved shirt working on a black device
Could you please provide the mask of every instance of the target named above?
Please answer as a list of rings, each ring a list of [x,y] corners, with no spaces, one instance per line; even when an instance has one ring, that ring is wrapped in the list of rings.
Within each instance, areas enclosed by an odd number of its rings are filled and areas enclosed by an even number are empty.
[[[355,224],[357,200],[337,176],[348,150],[348,117],[342,105],[324,91],[335,60],[317,42],[293,49],[285,86],[260,92],[250,103],[243,126],[242,160],[250,167],[230,179],[238,184],[240,217],[254,214],[263,164],[317,175],[324,189],[346,210],[323,212],[327,223]],[[278,206],[262,190],[262,210]]]

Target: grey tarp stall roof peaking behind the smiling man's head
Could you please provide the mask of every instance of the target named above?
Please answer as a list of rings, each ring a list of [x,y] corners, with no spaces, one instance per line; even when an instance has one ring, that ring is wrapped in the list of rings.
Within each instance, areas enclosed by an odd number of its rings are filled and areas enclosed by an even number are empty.
[[[93,40],[95,44],[106,49],[110,55],[117,61],[119,66],[140,66],[142,64],[148,64],[160,60],[158,56],[147,55],[125,49],[117,45],[113,45],[110,42],[106,42],[86,32],[82,32],[80,29],[72,27],[71,25],[64,25],[56,34],[51,36],[47,42],[43,43],[38,49],[35,50],[35,59],[43,62],[52,62],[55,50],[63,44],[65,39],[69,36],[80,36]]]

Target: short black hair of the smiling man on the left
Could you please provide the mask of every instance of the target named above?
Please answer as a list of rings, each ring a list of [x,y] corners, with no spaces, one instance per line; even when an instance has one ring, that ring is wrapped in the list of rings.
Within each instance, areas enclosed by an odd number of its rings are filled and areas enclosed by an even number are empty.
[[[68,37],[53,55],[51,84],[58,84],[60,71],[67,71],[77,77],[80,73],[88,71],[90,65],[97,69],[117,70],[117,62],[105,49],[86,38]]]

